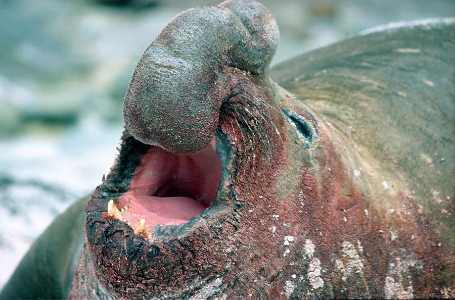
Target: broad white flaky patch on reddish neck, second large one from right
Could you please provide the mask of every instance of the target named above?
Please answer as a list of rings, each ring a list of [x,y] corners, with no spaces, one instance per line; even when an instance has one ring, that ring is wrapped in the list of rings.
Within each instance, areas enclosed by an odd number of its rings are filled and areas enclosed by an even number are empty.
[[[357,241],[357,245],[360,242]],[[361,245],[360,245],[361,247]],[[361,247],[363,252],[363,247]],[[359,248],[360,251],[360,248]],[[355,247],[348,241],[344,241],[341,245],[342,260],[335,261],[335,267],[341,273],[341,279],[345,281],[349,275],[353,272],[355,274],[362,274],[363,272],[363,263],[358,255]]]

